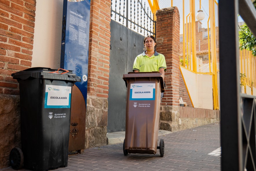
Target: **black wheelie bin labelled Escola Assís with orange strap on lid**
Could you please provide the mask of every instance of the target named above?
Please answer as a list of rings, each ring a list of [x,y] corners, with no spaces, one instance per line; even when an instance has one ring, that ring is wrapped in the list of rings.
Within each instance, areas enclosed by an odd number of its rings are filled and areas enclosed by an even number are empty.
[[[35,67],[12,74],[19,82],[21,149],[10,152],[18,170],[52,170],[68,164],[72,86],[81,79],[72,71]]]

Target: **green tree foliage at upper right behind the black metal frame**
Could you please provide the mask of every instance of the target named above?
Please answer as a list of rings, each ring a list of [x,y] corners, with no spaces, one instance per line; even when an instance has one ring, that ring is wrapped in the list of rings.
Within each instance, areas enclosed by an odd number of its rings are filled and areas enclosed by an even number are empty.
[[[256,1],[253,1],[256,9]],[[256,56],[256,38],[246,24],[239,29],[239,48],[252,51],[253,56]]]

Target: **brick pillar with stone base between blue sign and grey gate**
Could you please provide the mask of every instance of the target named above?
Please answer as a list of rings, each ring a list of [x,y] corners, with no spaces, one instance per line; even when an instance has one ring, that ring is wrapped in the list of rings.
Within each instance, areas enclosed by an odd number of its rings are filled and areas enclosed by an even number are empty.
[[[107,144],[111,0],[91,0],[85,148]]]

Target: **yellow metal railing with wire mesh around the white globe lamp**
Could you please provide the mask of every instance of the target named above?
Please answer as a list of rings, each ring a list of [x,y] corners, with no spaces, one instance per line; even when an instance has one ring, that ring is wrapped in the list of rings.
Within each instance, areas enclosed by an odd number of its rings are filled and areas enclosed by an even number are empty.
[[[216,0],[148,0],[154,13],[159,6],[177,6],[180,12],[180,65],[198,74],[212,75],[214,109],[218,101],[218,3]],[[163,4],[163,5],[162,5]],[[197,10],[205,19],[196,20]],[[181,12],[182,11],[182,12]]]

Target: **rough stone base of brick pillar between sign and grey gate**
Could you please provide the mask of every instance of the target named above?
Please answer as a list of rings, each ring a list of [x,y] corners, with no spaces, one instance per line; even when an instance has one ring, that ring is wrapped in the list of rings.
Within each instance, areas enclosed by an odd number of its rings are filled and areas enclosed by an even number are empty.
[[[87,96],[85,149],[107,145],[106,98]]]

